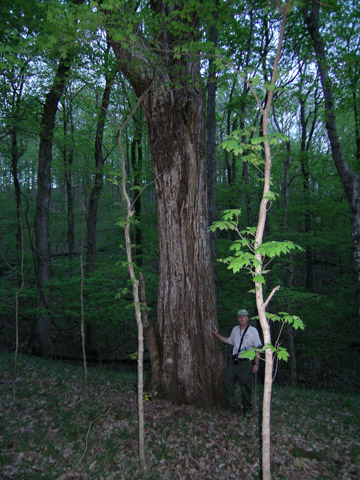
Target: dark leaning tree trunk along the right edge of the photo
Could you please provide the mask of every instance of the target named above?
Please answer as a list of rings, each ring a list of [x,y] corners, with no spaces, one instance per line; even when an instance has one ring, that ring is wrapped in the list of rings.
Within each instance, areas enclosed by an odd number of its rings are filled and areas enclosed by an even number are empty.
[[[320,2],[307,0],[305,7],[305,23],[311,35],[320,80],[325,99],[325,124],[328,133],[331,154],[350,207],[351,246],[353,269],[355,272],[355,290],[358,307],[358,335],[360,335],[360,177],[348,166],[340,145],[336,125],[335,100],[329,68],[327,65],[325,45],[319,28]]]

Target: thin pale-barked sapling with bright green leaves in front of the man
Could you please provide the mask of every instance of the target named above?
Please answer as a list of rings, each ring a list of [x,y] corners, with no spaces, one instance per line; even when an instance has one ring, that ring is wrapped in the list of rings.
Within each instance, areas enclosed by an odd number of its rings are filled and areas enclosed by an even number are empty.
[[[265,82],[265,105],[262,106],[260,99],[254,89],[256,80],[251,82],[247,79],[247,75],[243,74],[244,81],[250,86],[254,97],[256,99],[258,108],[262,115],[261,122],[261,136],[253,138],[249,144],[244,145],[241,142],[242,132],[234,132],[234,138],[224,142],[224,147],[237,154],[242,154],[244,150],[252,150],[254,155],[250,157],[254,160],[254,164],[263,164],[263,189],[262,198],[259,207],[258,222],[256,228],[248,227],[245,231],[239,231],[237,217],[239,211],[228,211],[224,214],[224,221],[215,223],[212,228],[222,228],[235,230],[240,236],[240,240],[233,244],[234,256],[229,257],[226,261],[229,263],[229,268],[234,272],[239,271],[241,268],[247,268],[253,276],[255,284],[255,298],[256,307],[260,320],[260,325],[264,337],[263,352],[265,355],[265,377],[264,377],[264,394],[262,404],[262,476],[263,480],[270,480],[270,419],[271,419],[271,395],[272,395],[272,383],[273,383],[273,365],[274,355],[279,358],[283,357],[284,350],[279,346],[272,345],[271,329],[269,319],[277,317],[267,313],[267,307],[280,286],[273,288],[268,295],[265,295],[264,290],[264,275],[266,274],[266,258],[273,258],[280,253],[288,252],[291,249],[297,248],[292,242],[264,242],[265,224],[267,220],[268,203],[274,198],[274,194],[271,191],[271,168],[272,168],[272,152],[271,152],[271,138],[269,131],[269,115],[271,104],[274,96],[275,83],[277,78],[278,63],[281,56],[281,45],[284,37],[286,19],[288,13],[292,9],[291,3],[282,4],[280,1],[276,1],[276,5],[281,12],[281,26],[279,32],[279,39],[277,43],[276,54],[274,58],[274,64],[270,77],[270,82]],[[262,145],[260,144],[262,143]],[[263,159],[262,159],[263,155]],[[244,248],[245,247],[245,248]],[[245,251],[245,249],[247,249]],[[283,319],[285,315],[282,315]],[[297,326],[302,326],[300,319],[296,319]],[[284,322],[292,323],[293,319],[286,314],[286,320]],[[285,354],[285,358],[288,354]],[[254,358],[255,352],[245,352],[245,357]],[[284,358],[284,357],[283,357]]]

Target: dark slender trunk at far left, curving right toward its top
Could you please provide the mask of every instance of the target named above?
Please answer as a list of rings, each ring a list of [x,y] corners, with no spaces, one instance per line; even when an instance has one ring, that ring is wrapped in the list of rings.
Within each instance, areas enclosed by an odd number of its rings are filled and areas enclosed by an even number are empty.
[[[49,317],[51,279],[50,261],[50,196],[51,163],[55,117],[64,85],[70,72],[71,57],[59,61],[49,93],[46,95],[41,121],[38,191],[35,213],[35,257],[39,286],[39,313],[33,331],[33,350],[43,356],[50,354]]]

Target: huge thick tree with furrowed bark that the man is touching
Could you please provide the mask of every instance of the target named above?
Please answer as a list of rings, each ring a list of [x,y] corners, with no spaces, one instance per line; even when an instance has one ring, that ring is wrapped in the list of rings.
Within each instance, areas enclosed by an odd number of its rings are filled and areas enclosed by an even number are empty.
[[[197,52],[173,52],[175,45],[199,40],[201,8],[201,2],[151,1],[144,11],[132,12],[131,42],[119,37],[124,13],[107,18],[123,75],[138,97],[147,93],[142,109],[159,227],[158,392],[174,403],[208,406],[222,400],[223,388],[221,350],[212,336],[216,309],[207,233],[205,96]]]

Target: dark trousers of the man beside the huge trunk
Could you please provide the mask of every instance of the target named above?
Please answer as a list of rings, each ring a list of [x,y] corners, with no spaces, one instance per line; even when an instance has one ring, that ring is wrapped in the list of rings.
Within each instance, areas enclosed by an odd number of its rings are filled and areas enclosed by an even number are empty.
[[[241,395],[242,395],[242,404],[244,407],[244,412],[251,412],[252,403],[251,403],[251,389],[253,382],[253,373],[252,373],[252,362],[248,359],[241,359],[237,364],[231,359],[228,363],[225,377],[224,377],[224,386],[225,386],[225,395],[228,402],[229,409],[237,412],[239,406],[235,400],[235,383],[239,382]]]

